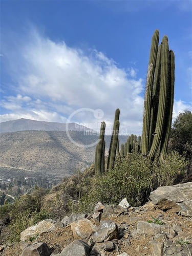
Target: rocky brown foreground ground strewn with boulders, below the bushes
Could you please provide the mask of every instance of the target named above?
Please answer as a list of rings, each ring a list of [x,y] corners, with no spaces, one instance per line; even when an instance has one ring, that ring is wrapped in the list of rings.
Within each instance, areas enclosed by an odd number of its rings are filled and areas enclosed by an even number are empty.
[[[150,198],[141,207],[98,203],[92,214],[42,221],[0,255],[191,255],[192,182],[160,187]]]

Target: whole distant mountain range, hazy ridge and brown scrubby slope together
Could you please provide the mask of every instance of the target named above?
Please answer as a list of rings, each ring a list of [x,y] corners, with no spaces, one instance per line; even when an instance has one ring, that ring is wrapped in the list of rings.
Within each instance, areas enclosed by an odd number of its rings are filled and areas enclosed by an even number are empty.
[[[69,124],[72,140],[68,138],[66,124],[63,123],[22,118],[2,122],[0,127],[0,176],[8,175],[8,168],[16,176],[18,168],[19,173],[33,170],[60,179],[94,162],[95,146],[84,148],[72,142],[90,145],[98,140],[98,134],[84,134],[83,130],[93,131],[85,126]],[[126,139],[127,136],[119,136],[120,143]],[[105,136],[106,154],[110,140],[111,136]]]

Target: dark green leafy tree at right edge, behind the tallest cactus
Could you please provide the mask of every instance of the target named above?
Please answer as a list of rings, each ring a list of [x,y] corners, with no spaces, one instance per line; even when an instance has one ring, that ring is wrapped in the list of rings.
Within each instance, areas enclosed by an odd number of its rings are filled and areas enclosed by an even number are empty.
[[[170,150],[192,157],[192,113],[185,110],[176,118],[170,135]]]

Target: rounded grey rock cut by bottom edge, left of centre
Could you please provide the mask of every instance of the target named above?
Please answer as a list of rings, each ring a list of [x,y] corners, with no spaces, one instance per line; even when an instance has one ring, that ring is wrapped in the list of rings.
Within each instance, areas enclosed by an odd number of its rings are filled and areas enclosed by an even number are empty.
[[[75,240],[68,244],[59,254],[60,256],[89,256],[91,247],[82,240]]]

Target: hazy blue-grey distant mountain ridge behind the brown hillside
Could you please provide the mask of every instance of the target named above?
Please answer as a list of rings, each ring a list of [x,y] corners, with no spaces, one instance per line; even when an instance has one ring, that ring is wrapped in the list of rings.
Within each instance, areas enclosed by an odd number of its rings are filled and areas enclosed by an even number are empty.
[[[17,119],[12,121],[6,121],[0,123],[0,133],[7,132],[18,132],[18,131],[66,131],[66,123],[58,122],[45,122],[45,121],[36,121],[30,119]],[[77,123],[69,123],[69,131],[93,131],[86,126],[79,125]]]

